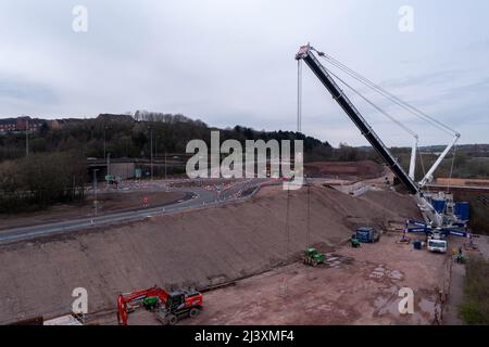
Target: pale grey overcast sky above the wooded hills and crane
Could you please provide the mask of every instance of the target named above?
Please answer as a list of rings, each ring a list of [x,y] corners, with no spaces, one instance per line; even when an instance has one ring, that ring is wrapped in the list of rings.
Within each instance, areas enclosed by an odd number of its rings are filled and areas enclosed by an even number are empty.
[[[76,5],[88,11],[86,33],[73,30]],[[414,31],[399,28],[403,5],[414,10]],[[462,143],[488,143],[488,13],[486,0],[2,0],[0,117],[148,110],[218,127],[294,130],[294,54],[310,41],[455,128]],[[365,144],[303,70],[303,132],[335,145]],[[361,90],[417,132],[421,144],[449,141]],[[352,100],[387,144],[411,143]]]

